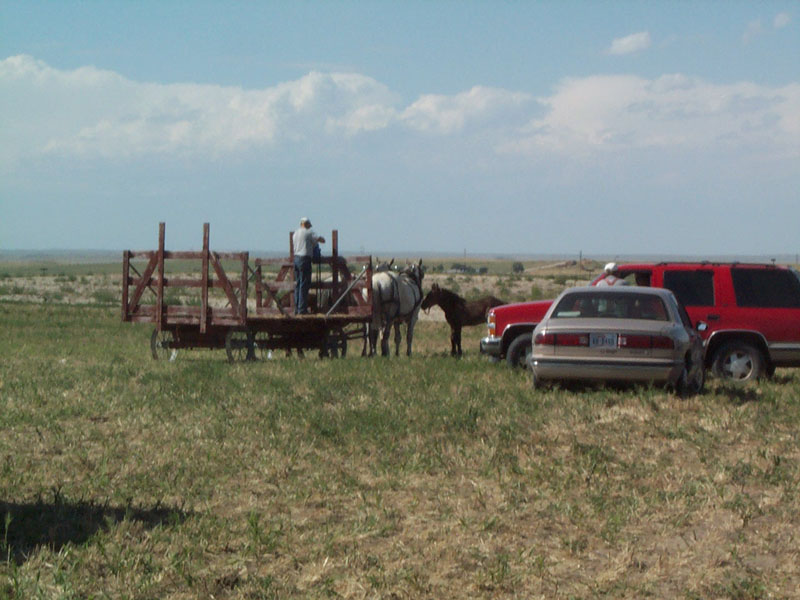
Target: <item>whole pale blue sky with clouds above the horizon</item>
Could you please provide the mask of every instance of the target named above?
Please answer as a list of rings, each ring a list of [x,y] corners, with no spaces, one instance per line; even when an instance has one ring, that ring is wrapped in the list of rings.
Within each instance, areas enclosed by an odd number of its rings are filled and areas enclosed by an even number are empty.
[[[0,0],[0,249],[800,251],[797,2]]]

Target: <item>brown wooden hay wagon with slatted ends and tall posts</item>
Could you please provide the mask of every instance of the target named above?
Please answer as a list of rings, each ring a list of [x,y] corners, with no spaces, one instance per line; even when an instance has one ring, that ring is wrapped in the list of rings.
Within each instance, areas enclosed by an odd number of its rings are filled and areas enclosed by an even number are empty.
[[[288,258],[251,265],[248,252],[211,251],[208,223],[201,251],[166,250],[164,230],[160,223],[157,250],[122,255],[122,320],[155,325],[153,358],[174,360],[182,348],[225,348],[230,362],[276,350],[343,356],[352,339],[361,340],[364,352],[372,257],[339,256],[337,231],[331,255],[314,264],[312,312],[295,315],[291,234]]]

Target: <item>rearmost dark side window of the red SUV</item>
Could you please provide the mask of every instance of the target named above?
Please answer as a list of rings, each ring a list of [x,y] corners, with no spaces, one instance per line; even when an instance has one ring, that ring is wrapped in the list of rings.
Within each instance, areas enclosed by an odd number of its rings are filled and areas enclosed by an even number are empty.
[[[783,269],[731,269],[739,306],[800,308],[800,280]]]

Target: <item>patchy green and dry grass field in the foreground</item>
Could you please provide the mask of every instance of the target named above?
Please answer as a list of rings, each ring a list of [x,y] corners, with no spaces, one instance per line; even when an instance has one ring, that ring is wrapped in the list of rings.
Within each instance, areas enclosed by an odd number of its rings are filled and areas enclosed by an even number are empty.
[[[150,332],[0,302],[0,598],[799,596],[800,371],[533,392],[481,327],[238,365]]]

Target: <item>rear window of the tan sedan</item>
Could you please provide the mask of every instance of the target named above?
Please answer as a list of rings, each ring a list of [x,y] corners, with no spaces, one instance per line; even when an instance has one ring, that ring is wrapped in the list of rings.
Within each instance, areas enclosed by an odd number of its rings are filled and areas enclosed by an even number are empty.
[[[668,321],[661,298],[650,294],[568,294],[553,311],[555,319],[646,319]]]

